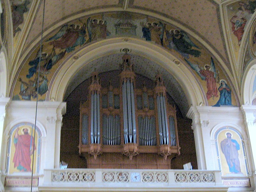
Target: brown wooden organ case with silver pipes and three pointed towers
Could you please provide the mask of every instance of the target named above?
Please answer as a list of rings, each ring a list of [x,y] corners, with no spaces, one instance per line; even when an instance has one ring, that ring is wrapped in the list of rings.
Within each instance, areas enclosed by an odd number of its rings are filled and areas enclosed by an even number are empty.
[[[87,168],[171,169],[180,147],[163,78],[156,76],[154,90],[137,89],[131,57],[122,59],[119,88],[102,88],[92,74],[88,100],[80,105],[79,153]]]

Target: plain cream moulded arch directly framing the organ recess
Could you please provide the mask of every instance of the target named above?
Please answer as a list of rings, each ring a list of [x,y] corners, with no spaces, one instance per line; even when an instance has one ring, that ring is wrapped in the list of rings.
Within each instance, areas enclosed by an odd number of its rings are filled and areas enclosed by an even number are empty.
[[[118,53],[123,48],[129,48],[132,50],[132,53],[149,58],[167,70],[180,83],[180,86],[186,93],[189,104],[199,105],[200,103],[204,103],[204,105],[208,105],[200,83],[184,63],[175,64],[174,60],[177,59],[164,50],[164,48],[136,38],[106,39],[88,45],[86,48],[82,48],[72,54],[63,61],[61,67],[54,74],[49,84],[46,100],[62,101],[70,80],[76,75],[79,69],[94,59],[107,54]],[[80,56],[80,58],[74,61],[72,59],[74,55]]]

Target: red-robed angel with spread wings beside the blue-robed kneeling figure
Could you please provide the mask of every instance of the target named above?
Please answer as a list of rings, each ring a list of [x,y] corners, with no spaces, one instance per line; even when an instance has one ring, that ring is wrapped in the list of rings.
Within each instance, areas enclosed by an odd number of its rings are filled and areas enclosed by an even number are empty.
[[[198,65],[193,64],[186,59],[185,61],[187,61],[188,65],[190,65],[190,67],[196,71],[196,73],[201,77],[202,80],[206,81],[206,98],[209,100],[211,97],[218,97],[218,90],[216,87],[217,72],[215,69],[213,59],[211,58],[210,65],[204,65],[204,69],[200,68]]]

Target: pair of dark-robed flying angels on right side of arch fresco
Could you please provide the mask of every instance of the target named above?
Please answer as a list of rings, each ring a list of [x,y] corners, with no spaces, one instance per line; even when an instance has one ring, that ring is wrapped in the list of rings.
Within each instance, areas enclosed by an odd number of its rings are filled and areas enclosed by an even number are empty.
[[[167,38],[172,40],[172,44],[175,45],[178,52],[193,55],[194,57],[199,57],[201,55],[200,51],[192,49],[192,47],[197,49],[200,48],[190,40],[185,31],[175,29],[172,33],[170,32],[170,34],[167,35]]]

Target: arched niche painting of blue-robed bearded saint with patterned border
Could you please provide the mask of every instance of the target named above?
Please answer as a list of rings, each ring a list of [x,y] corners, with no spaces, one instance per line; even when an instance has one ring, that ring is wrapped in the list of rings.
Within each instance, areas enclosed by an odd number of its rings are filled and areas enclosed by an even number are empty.
[[[232,127],[220,128],[214,136],[219,170],[222,176],[249,176],[244,140]]]

